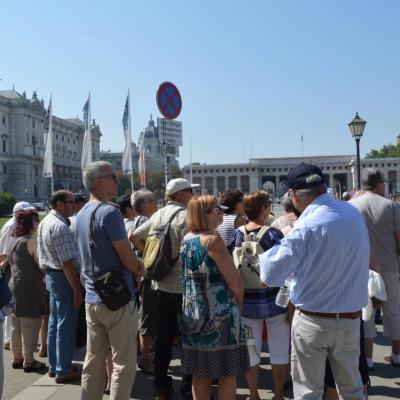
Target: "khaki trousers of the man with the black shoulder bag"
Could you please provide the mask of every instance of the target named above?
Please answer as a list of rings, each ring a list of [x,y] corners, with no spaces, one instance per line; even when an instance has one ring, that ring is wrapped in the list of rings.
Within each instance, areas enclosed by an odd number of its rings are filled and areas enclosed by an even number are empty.
[[[101,400],[106,384],[106,356],[111,347],[110,399],[128,400],[136,375],[137,308],[131,301],[116,311],[86,304],[87,352],[82,372],[82,400]]]

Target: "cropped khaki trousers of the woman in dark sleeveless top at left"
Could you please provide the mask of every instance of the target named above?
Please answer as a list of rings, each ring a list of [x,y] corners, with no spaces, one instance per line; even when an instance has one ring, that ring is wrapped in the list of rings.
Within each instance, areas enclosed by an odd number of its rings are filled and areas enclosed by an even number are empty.
[[[42,317],[25,318],[11,314],[11,350],[16,353],[33,353],[38,343]]]

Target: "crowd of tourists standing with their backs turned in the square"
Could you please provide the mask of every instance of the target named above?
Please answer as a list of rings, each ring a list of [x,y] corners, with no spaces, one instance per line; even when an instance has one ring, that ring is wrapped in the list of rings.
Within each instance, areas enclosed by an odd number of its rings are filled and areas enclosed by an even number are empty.
[[[234,399],[243,375],[258,400],[266,341],[276,400],[288,385],[295,399],[366,399],[376,336],[375,312],[362,320],[370,270],[386,289],[384,301],[372,299],[392,342],[385,360],[400,366],[400,206],[385,198],[379,170],[364,169],[364,190],[338,200],[321,170],[302,163],[288,174],[276,219],[262,190],[195,195],[198,185],[177,178],[158,208],[147,189],[116,199],[105,161],[89,164],[83,181],[88,196],[54,192],[40,223],[34,207],[17,203],[1,231],[12,368],[81,380],[83,400],[124,400],[138,367],[165,400],[178,345],[183,399],[209,400],[212,385],[218,399]],[[72,361],[82,346],[80,370]]]

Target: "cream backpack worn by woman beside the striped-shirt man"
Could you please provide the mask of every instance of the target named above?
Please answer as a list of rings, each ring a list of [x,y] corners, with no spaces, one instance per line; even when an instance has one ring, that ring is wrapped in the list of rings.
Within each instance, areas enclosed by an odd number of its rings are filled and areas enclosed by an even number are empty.
[[[269,228],[263,226],[254,240],[251,240],[244,226],[238,229],[243,233],[243,242],[240,244],[240,247],[236,247],[233,250],[233,262],[242,276],[244,288],[260,289],[260,260],[258,256],[263,253],[264,250],[259,242]]]

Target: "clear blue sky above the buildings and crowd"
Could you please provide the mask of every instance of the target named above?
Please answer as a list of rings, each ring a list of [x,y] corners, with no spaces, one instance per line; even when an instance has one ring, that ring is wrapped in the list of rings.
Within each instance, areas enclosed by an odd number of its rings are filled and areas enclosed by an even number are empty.
[[[400,134],[400,2],[385,0],[8,1],[0,90],[37,90],[79,115],[91,92],[101,149],[122,151],[182,95],[180,165],[355,154],[347,124],[367,121],[361,156]]]

